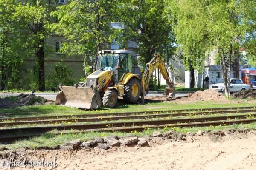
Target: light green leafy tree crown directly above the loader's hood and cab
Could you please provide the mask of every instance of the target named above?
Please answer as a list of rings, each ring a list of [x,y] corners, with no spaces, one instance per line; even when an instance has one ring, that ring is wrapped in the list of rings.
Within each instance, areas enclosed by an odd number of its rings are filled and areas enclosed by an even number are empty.
[[[52,12],[57,22],[51,27],[66,38],[61,51],[87,58],[111,43],[118,31],[110,26],[117,20],[117,3],[118,0],[71,0],[59,6]]]

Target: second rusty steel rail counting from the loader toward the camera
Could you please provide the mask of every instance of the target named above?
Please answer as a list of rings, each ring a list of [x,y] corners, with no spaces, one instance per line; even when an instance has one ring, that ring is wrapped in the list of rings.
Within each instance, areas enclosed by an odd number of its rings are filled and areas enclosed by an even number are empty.
[[[208,112],[191,112],[191,113],[167,113],[167,114],[146,114],[146,115],[131,115],[131,116],[106,116],[106,117],[89,117],[78,119],[52,119],[52,120],[36,120],[36,121],[18,121],[18,122],[0,122],[0,127],[14,125],[36,125],[36,124],[55,124],[63,122],[81,123],[81,122],[104,122],[121,119],[149,119],[149,118],[164,118],[177,116],[194,116],[194,115],[209,115],[209,114],[226,114],[226,113],[249,113],[256,112],[256,109],[250,110],[228,110],[228,111],[208,111]]]

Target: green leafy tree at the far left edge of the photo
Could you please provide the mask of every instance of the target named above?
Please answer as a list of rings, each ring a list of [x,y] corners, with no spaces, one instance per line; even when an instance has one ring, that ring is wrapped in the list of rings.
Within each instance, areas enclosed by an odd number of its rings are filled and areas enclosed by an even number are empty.
[[[0,0],[0,86],[20,88],[20,76],[26,58],[29,56],[26,42],[29,36],[23,30],[22,22],[14,17],[16,0]]]

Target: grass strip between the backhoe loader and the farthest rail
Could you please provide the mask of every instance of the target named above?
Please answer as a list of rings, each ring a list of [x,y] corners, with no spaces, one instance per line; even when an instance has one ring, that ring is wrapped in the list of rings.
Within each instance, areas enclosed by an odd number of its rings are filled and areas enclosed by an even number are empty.
[[[17,108],[1,108],[0,118],[22,117],[22,116],[51,116],[51,115],[72,115],[72,114],[90,114],[90,113],[120,113],[134,111],[154,111],[154,110],[176,110],[176,109],[196,109],[201,108],[224,108],[224,107],[242,107],[255,104],[250,100],[239,100],[239,103],[218,103],[218,101],[198,101],[193,103],[180,104],[175,102],[157,102],[145,105],[128,105],[119,101],[116,108],[100,108],[98,110],[81,110],[57,105],[33,105]]]

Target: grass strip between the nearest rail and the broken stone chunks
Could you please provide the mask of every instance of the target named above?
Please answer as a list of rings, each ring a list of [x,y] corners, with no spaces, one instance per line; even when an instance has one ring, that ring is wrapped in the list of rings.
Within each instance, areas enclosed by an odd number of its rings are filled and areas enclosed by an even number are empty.
[[[149,129],[144,130],[143,132],[131,132],[131,133],[123,133],[123,132],[88,132],[88,133],[70,133],[70,134],[61,134],[61,135],[55,135],[56,131],[45,133],[42,136],[33,137],[31,139],[26,140],[19,140],[15,141],[12,144],[1,144],[1,147],[7,147],[9,149],[17,149],[22,147],[29,147],[31,149],[39,148],[39,147],[56,147],[60,144],[64,144],[65,142],[72,141],[75,139],[80,139],[81,141],[88,141],[91,139],[95,139],[97,137],[105,137],[105,136],[111,136],[116,135],[119,137],[123,136],[129,136],[129,135],[136,135],[136,136],[146,136],[146,135],[152,135],[152,133],[157,130],[161,133],[164,133],[168,130],[175,130],[178,133],[186,133],[186,132],[197,132],[198,130],[223,130],[223,129],[238,129],[238,128],[249,128],[253,129],[256,128],[256,122],[250,123],[250,124],[239,124],[239,125],[230,125],[230,126],[209,126],[209,127],[190,127],[190,128],[178,128],[178,127],[166,127],[164,129]]]

